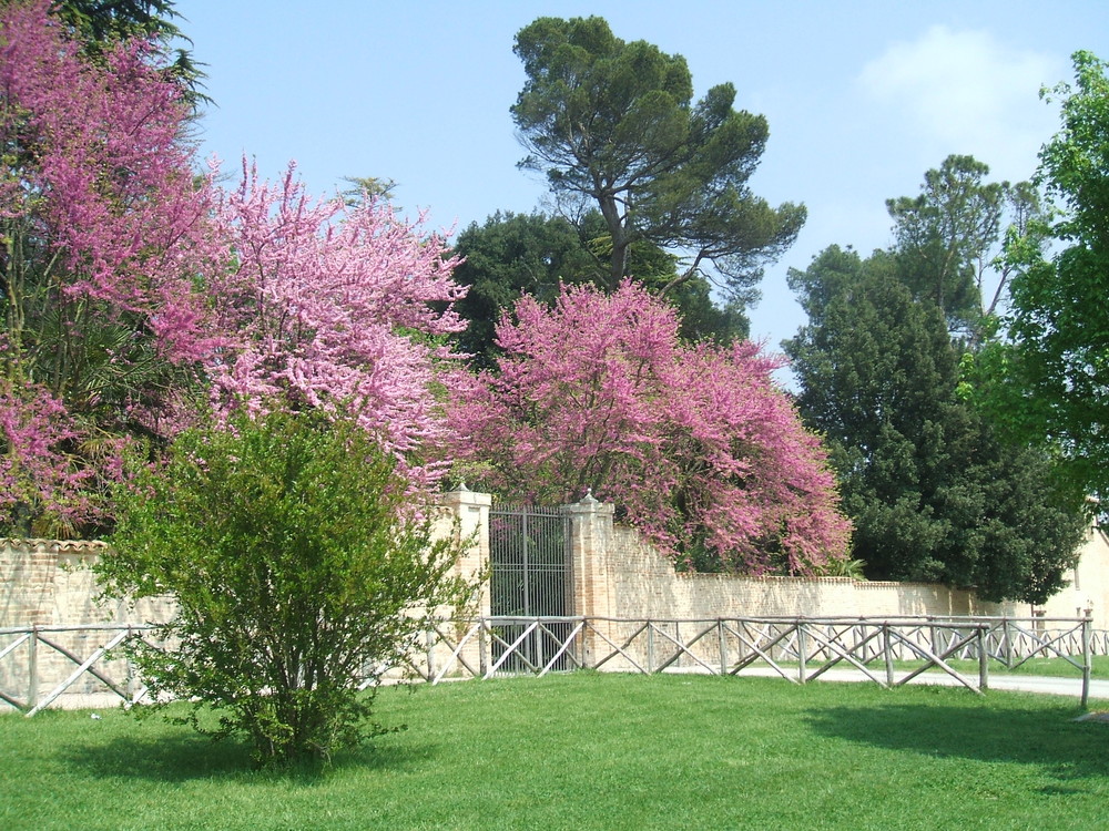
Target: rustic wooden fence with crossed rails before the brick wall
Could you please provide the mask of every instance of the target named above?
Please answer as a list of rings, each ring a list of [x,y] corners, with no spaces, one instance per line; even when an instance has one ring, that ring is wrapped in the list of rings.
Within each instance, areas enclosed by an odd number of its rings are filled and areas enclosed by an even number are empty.
[[[33,716],[61,700],[135,704],[146,688],[122,655],[131,638],[150,638],[142,624],[0,628],[0,709]],[[113,652],[114,650],[114,652]],[[730,617],[629,619],[602,617],[482,617],[441,620],[411,645],[404,667],[387,679],[430,684],[497,675],[543,676],[599,669],[632,673],[777,675],[795,684],[848,669],[892,688],[942,673],[984,694],[993,664],[1014,669],[1034,657],[1061,658],[1082,677],[1089,699],[1093,655],[1109,654],[1109,633],[1089,619],[904,617]],[[974,661],[967,671],[952,664]],[[365,688],[379,666],[354,683]],[[841,676],[842,677],[842,676]]]

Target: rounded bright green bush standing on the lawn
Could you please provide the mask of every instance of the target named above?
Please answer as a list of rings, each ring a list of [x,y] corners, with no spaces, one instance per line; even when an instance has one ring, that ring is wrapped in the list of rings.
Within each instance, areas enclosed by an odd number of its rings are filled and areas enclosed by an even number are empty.
[[[327,759],[380,732],[376,679],[426,615],[461,598],[457,544],[414,517],[394,461],[353,419],[240,414],[181,434],[115,494],[106,593],[172,594],[162,652],[135,658],[155,700],[220,715],[261,763]],[[159,705],[155,705],[157,707]],[[208,728],[203,728],[208,729]]]

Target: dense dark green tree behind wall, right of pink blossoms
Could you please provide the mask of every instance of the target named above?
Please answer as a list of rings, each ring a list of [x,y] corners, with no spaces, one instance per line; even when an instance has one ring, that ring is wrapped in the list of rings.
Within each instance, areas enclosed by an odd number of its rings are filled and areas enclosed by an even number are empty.
[[[833,246],[790,275],[810,324],[786,351],[855,524],[852,556],[872,578],[1040,603],[1072,565],[1081,514],[1047,459],[1004,447],[960,400],[944,316],[898,268]]]

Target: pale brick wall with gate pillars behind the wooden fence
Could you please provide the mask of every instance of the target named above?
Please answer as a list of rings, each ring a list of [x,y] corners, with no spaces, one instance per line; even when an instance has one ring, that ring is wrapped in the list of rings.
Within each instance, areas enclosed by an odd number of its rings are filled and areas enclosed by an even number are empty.
[[[489,509],[485,493],[444,494],[439,533],[466,541],[458,573],[479,586],[466,616],[489,615]],[[867,583],[849,578],[736,577],[720,574],[679,574],[670,561],[637,532],[613,523],[613,509],[592,499],[568,505],[571,521],[572,613],[593,618],[705,620],[736,617],[901,617],[906,615],[1006,615],[1027,617],[1022,604],[978,602],[971,593],[939,585]],[[167,619],[169,598],[139,607],[96,601],[90,565],[104,543],[0,540],[0,629],[29,626],[81,626],[102,623],[145,623]],[[1039,614],[1076,617],[1087,614],[1095,628],[1109,628],[1109,538],[1091,530],[1072,584]],[[615,626],[611,636],[622,637]],[[74,655],[89,655],[111,633],[49,635]],[[0,633],[0,652],[18,635]],[[587,645],[587,648],[591,648]],[[0,660],[0,691],[26,700],[29,647],[23,645]],[[444,653],[444,649],[447,649]],[[449,663],[449,648],[429,648],[421,669]],[[475,639],[460,657],[477,668],[481,650]],[[55,650],[39,647],[40,693],[71,673],[74,664]],[[12,675],[18,671],[23,676]],[[115,675],[120,670],[112,669]],[[94,687],[91,677],[84,686]],[[33,691],[33,690],[32,690]],[[81,691],[81,688],[74,691]],[[3,708],[0,702],[0,709]]]

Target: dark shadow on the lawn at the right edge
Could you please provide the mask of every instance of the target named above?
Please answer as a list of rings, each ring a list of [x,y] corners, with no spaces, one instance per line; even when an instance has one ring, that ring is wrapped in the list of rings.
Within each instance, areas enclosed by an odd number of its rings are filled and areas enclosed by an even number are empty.
[[[823,736],[935,758],[1036,766],[1059,780],[1109,777],[1109,724],[1077,710],[892,705],[810,714]],[[1066,789],[1065,789],[1066,790]]]

